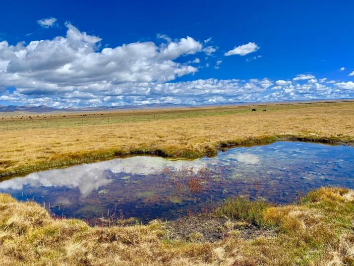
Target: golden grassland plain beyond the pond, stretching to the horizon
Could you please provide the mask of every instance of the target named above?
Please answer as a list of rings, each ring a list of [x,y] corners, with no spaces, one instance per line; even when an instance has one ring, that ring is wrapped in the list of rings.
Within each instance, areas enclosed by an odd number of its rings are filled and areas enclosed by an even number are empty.
[[[29,116],[0,119],[0,177],[131,154],[194,158],[279,138],[354,143],[354,102]]]

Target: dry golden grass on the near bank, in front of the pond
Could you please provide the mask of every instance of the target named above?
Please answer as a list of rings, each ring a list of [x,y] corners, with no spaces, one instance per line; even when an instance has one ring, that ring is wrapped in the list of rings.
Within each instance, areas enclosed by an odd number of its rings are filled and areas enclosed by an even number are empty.
[[[239,200],[229,202],[238,209]],[[252,203],[246,204],[250,211]],[[247,206],[242,205],[247,212]],[[272,236],[239,237],[229,232],[218,242],[177,240],[164,222],[125,227],[90,227],[75,219],[55,220],[34,202],[0,194],[0,265],[213,265],[340,266],[354,263],[354,191],[322,188],[298,205],[263,206],[258,218]],[[235,211],[231,211],[236,213]],[[223,215],[223,208],[218,211]],[[238,224],[240,224],[238,222]],[[196,233],[197,234],[197,233]]]

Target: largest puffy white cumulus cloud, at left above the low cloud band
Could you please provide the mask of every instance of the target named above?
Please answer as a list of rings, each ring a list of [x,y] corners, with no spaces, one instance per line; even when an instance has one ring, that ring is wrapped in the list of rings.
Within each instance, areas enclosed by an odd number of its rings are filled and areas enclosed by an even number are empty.
[[[124,82],[166,82],[197,68],[176,63],[202,45],[191,37],[157,46],[136,42],[98,51],[101,38],[66,24],[66,37],[28,45],[0,42],[0,87],[21,94],[114,90]]]

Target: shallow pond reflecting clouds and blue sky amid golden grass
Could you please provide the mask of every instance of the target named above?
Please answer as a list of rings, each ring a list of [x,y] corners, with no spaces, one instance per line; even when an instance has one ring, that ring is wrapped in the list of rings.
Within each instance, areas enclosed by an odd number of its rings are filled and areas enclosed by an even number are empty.
[[[0,192],[35,200],[60,216],[173,219],[245,195],[293,202],[322,186],[354,189],[354,148],[278,141],[193,161],[135,156],[0,182]]]

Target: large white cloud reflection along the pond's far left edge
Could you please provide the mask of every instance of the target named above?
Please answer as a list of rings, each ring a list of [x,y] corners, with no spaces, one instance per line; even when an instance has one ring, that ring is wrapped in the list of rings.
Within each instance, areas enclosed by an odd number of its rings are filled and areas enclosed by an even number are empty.
[[[206,166],[200,160],[169,160],[161,157],[135,156],[125,159],[114,159],[105,162],[76,165],[64,169],[53,169],[32,173],[25,177],[13,178],[0,183],[0,190],[23,190],[25,186],[78,188],[82,198],[86,198],[94,190],[110,184],[112,173],[131,175],[159,174],[165,168],[178,171],[193,168],[197,172]]]

